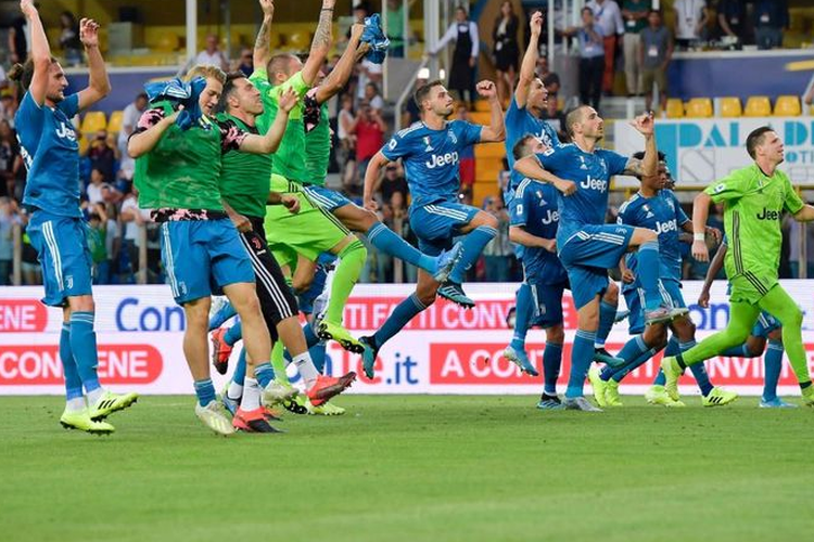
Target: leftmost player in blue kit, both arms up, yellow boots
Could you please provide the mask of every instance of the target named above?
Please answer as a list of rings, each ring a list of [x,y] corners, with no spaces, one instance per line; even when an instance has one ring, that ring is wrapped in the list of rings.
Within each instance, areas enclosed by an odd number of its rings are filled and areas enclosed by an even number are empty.
[[[23,0],[20,9],[28,20],[31,55],[25,65],[16,64],[9,77],[25,91],[15,121],[28,170],[23,196],[23,205],[31,212],[27,231],[46,285],[42,302],[61,307],[63,313],[60,360],[67,401],[60,423],[66,429],[105,435],[115,429],[103,420],[136,402],[138,396],[112,393],[99,384],[91,260],[79,209],[79,143],[71,118],[107,95],[111,83],[94,21],[79,23],[79,39],[90,65],[88,88],[66,96],[67,79],[51,56],[37,8],[31,0]]]

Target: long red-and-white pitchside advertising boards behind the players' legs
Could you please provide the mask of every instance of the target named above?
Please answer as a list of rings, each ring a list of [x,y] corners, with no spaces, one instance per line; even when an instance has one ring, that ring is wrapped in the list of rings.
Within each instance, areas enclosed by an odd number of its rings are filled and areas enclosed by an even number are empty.
[[[814,370],[814,281],[784,281],[803,309],[803,339],[809,365]],[[358,356],[338,345],[328,346],[332,374],[356,371],[360,377],[352,392],[360,393],[537,393],[542,378],[519,374],[501,358],[511,339],[506,313],[514,305],[514,284],[469,284],[467,292],[478,301],[471,311],[440,300],[414,319],[380,351],[377,376],[363,375]],[[713,287],[709,309],[695,305],[700,283],[684,287],[698,338],[723,328],[729,315],[725,283]],[[359,285],[345,309],[345,324],[357,336],[378,330],[395,306],[412,292],[411,285]],[[0,395],[58,395],[63,392],[59,361],[61,311],[38,301],[38,287],[0,288]],[[190,393],[192,383],[181,350],[183,311],[173,302],[168,286],[100,286],[97,301],[100,376],[114,390],[141,393]],[[624,301],[620,302],[624,307]],[[570,294],[563,299],[567,339],[560,384],[568,378],[576,312]],[[626,323],[618,324],[608,348],[618,351],[628,339]],[[527,350],[540,370],[545,332],[529,334]],[[237,350],[232,360],[237,359]],[[625,378],[623,392],[641,392],[650,385],[657,360]],[[748,395],[759,395],[763,384],[763,361],[715,358],[707,366],[713,384]],[[214,372],[213,372],[214,373]],[[222,379],[214,375],[218,386]],[[682,380],[684,391],[697,392],[691,377]],[[797,393],[788,364],[784,366],[780,391]]]

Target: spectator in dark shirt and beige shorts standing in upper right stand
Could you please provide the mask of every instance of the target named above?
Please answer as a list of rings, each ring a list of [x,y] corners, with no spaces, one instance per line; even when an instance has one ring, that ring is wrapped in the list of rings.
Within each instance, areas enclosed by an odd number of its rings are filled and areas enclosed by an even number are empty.
[[[650,10],[648,27],[641,30],[640,62],[645,89],[645,111],[651,111],[653,83],[659,87],[659,107],[667,105],[667,66],[673,56],[673,36],[661,22],[661,13]]]

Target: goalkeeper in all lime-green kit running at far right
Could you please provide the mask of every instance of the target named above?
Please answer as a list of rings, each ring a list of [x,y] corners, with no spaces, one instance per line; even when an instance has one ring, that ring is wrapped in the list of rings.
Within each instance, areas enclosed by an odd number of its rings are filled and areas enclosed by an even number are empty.
[[[695,348],[674,358],[664,358],[661,362],[666,378],[664,387],[677,400],[678,377],[684,369],[743,343],[761,310],[765,310],[783,324],[783,344],[800,383],[803,401],[814,406],[814,387],[803,348],[803,313],[777,280],[783,211],[791,212],[794,220],[810,222],[814,220],[814,207],[800,199],[789,178],[777,169],[784,160],[783,140],[777,132],[767,126],[758,128],[747,138],[746,147],[754,164],[707,188],[696,196],[692,207],[694,231],[699,232],[695,234],[692,256],[699,261],[709,261],[709,250],[700,232],[707,224],[710,203],[725,203],[724,229],[729,240],[725,267],[732,284],[729,323],[724,331],[707,337]]]

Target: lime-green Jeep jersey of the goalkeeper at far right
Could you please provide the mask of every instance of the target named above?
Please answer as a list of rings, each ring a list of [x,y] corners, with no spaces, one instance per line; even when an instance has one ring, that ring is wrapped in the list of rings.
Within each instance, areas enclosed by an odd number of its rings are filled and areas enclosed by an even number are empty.
[[[736,169],[704,192],[713,202],[725,204],[724,229],[729,250],[724,263],[733,292],[742,283],[756,295],[765,295],[777,282],[783,211],[794,214],[804,205],[791,181],[778,169],[766,177],[753,164]]]

